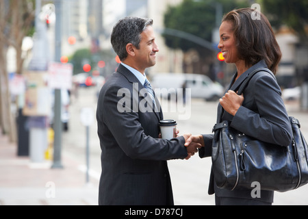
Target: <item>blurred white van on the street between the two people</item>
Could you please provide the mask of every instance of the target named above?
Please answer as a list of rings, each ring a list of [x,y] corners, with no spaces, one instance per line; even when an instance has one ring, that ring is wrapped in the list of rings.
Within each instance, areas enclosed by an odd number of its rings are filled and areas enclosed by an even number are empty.
[[[213,82],[205,75],[184,74],[184,73],[159,73],[154,75],[151,86],[155,89],[160,88],[160,94],[166,98],[178,89],[191,89],[191,98],[205,99],[206,101],[217,101],[224,92],[220,83]],[[163,89],[166,88],[166,89]]]

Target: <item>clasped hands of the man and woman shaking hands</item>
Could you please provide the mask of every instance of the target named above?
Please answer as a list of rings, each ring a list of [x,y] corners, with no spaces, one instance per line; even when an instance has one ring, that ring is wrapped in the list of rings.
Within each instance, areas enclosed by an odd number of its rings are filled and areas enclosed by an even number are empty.
[[[198,149],[205,146],[203,136],[201,135],[192,136],[192,134],[183,134],[183,137],[185,138],[184,146],[187,148],[188,153],[188,156],[185,157],[185,159],[190,159],[194,153],[198,152]]]

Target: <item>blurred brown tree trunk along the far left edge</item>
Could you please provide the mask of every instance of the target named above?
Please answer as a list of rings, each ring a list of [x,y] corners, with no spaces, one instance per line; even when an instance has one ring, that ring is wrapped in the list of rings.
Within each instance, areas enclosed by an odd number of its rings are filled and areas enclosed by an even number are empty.
[[[15,115],[11,112],[11,96],[7,71],[7,51],[16,49],[16,73],[22,74],[23,62],[21,45],[23,38],[34,21],[34,0],[0,0],[0,127],[9,134],[10,142],[16,142]]]

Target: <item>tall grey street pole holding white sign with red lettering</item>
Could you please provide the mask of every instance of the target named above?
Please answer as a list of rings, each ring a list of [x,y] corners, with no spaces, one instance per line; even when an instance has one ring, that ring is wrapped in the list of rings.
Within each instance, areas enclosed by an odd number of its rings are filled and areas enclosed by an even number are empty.
[[[61,16],[62,1],[54,0],[55,3],[55,62],[61,59]],[[61,162],[62,151],[62,121],[61,121],[61,90],[55,89],[55,116],[54,116],[54,132],[55,138],[53,142],[53,165],[51,168],[63,168]]]

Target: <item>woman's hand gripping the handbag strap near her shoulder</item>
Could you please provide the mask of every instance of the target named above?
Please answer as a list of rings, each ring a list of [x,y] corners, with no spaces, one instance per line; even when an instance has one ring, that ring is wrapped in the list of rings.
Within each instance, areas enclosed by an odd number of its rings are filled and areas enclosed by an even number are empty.
[[[238,95],[233,90],[228,90],[221,99],[219,99],[220,105],[227,111],[229,114],[235,116],[236,112],[244,102],[244,95]]]

